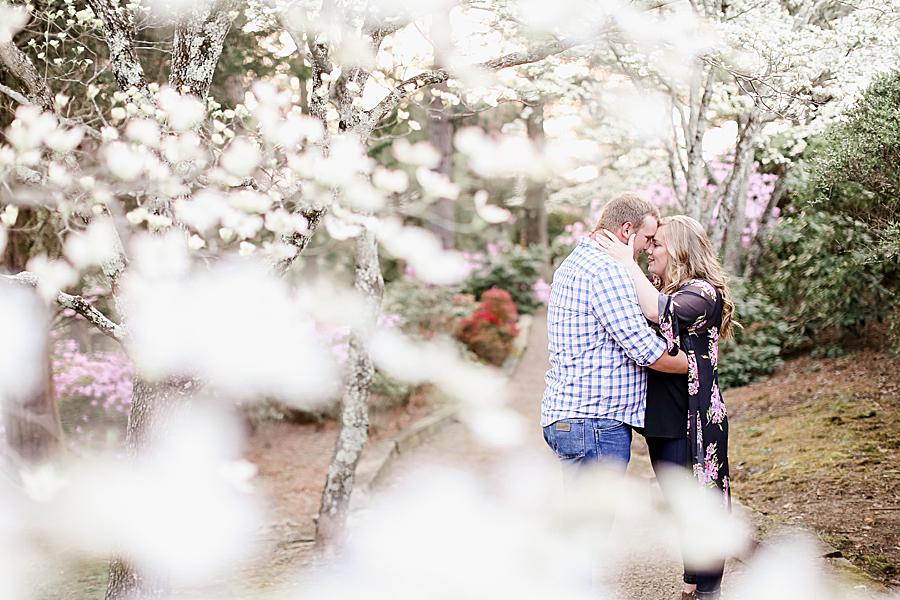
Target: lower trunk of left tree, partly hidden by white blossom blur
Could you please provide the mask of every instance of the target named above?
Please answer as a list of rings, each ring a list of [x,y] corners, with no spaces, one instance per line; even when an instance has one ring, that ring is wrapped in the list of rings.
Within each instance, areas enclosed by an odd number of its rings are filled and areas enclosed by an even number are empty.
[[[192,379],[151,382],[135,377],[125,433],[128,453],[135,457],[149,443],[159,439],[164,433],[166,420],[199,389],[199,383]],[[140,515],[135,518],[140,518]],[[106,600],[144,600],[161,598],[167,593],[165,582],[151,580],[126,559],[115,558],[110,562]]]

